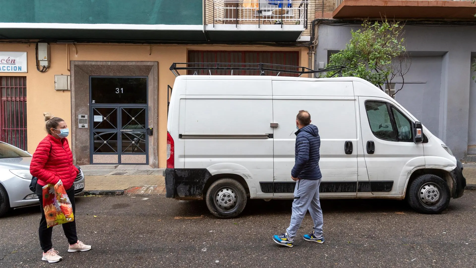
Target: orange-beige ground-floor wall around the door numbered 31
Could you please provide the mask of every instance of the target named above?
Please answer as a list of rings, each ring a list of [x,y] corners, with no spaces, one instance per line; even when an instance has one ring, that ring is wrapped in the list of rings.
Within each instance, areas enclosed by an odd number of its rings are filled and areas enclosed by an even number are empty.
[[[28,150],[33,152],[46,135],[44,112],[65,119],[71,125],[71,94],[54,90],[54,75],[69,75],[69,61],[157,61],[159,62],[159,167],[166,165],[167,85],[173,87],[175,76],[169,67],[173,62],[187,62],[188,50],[256,50],[299,51],[301,66],[307,67],[307,48],[267,46],[165,46],[132,44],[50,44],[50,68],[38,72],[35,66],[35,44],[0,44],[0,51],[28,53],[27,73],[0,72],[0,76],[27,77]],[[69,54],[69,55],[68,55]],[[149,55],[150,54],[150,55]],[[185,72],[184,72],[185,73]],[[75,119],[77,120],[77,119]]]

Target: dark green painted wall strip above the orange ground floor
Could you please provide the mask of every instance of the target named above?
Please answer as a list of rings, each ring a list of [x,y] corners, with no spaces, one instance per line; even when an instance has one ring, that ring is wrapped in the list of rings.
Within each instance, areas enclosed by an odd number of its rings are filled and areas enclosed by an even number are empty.
[[[202,0],[0,0],[0,22],[202,24]]]

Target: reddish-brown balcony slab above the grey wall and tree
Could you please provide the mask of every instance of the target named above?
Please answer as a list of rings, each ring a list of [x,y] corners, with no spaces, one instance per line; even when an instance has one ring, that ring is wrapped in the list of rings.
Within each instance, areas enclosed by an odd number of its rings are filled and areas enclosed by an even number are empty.
[[[475,20],[473,0],[336,0],[334,19]]]

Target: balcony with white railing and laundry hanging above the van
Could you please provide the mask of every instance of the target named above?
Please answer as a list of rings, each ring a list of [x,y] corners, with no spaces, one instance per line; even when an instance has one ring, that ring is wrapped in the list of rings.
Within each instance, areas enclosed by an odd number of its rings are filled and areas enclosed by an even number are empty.
[[[308,0],[206,0],[204,15],[214,41],[292,42],[307,31],[308,14]]]

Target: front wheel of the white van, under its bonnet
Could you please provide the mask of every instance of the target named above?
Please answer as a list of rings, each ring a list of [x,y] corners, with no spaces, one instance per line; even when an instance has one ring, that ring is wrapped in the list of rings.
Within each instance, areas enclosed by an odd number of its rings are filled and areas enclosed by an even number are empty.
[[[436,175],[426,174],[411,183],[407,202],[420,213],[437,214],[448,207],[450,198],[446,181]]]

